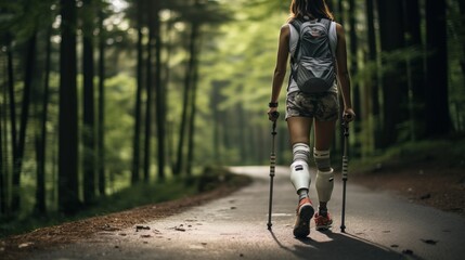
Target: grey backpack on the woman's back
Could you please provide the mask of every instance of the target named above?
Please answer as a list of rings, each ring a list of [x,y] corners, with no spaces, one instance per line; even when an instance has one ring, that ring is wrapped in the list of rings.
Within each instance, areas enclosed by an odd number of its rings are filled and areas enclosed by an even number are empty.
[[[296,51],[290,60],[292,77],[305,93],[327,91],[336,79],[330,44],[331,23],[327,18],[290,22],[299,32]]]

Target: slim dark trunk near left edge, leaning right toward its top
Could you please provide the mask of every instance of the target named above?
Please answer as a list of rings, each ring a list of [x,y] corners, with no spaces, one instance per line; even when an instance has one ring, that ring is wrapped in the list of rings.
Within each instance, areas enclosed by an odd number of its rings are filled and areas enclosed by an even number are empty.
[[[18,211],[21,208],[21,174],[23,168],[24,159],[24,150],[26,146],[26,130],[27,122],[29,119],[29,106],[30,106],[30,91],[34,83],[34,73],[36,65],[36,42],[37,34],[34,32],[33,36],[27,41],[27,54],[26,54],[26,72],[24,77],[24,90],[23,90],[23,103],[21,112],[21,122],[20,122],[20,136],[17,140],[17,150],[16,155],[13,155],[14,166],[13,166],[13,194],[12,194],[12,204],[11,208],[13,211]]]

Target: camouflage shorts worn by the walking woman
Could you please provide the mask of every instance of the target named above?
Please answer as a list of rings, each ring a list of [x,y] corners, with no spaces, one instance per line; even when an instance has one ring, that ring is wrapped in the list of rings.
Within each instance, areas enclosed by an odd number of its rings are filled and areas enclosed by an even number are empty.
[[[339,115],[337,94],[325,92],[306,94],[300,91],[287,94],[286,119],[289,117],[311,117],[319,121],[334,121]]]

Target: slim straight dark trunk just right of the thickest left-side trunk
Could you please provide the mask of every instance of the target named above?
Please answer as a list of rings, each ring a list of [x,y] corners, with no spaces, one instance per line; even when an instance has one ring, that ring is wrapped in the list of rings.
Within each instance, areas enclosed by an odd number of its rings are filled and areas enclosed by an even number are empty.
[[[83,73],[83,126],[82,126],[82,172],[83,202],[91,205],[95,200],[95,96],[93,65],[93,23],[94,5],[92,0],[83,0],[82,5],[82,73]]]

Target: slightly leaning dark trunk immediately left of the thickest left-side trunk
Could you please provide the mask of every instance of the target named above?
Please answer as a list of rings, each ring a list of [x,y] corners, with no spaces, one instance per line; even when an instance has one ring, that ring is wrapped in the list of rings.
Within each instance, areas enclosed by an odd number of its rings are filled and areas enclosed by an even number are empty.
[[[37,179],[36,179],[36,206],[35,211],[43,214],[47,212],[46,204],[46,146],[47,146],[47,118],[49,115],[50,95],[50,63],[51,63],[51,28],[47,30],[46,67],[42,93],[42,109],[40,115],[40,130],[37,133]]]

